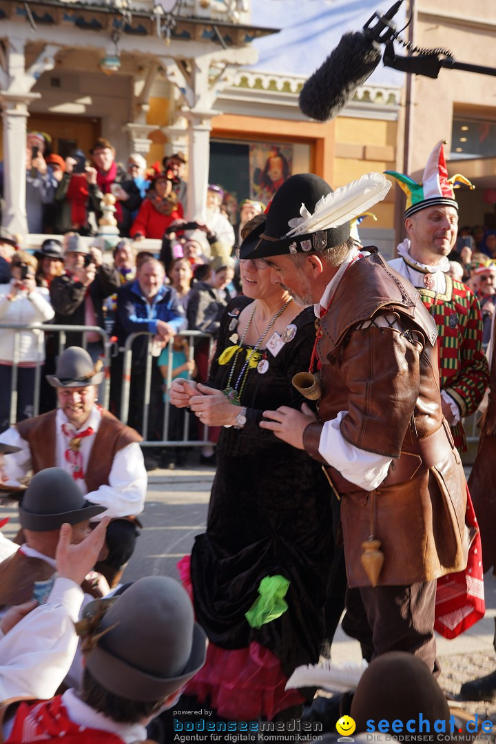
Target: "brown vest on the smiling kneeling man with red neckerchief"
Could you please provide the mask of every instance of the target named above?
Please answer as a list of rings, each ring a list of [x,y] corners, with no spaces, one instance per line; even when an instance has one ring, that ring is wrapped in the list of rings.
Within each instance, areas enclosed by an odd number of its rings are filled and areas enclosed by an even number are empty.
[[[33,472],[55,467],[56,440],[55,419],[57,410],[16,423],[16,429],[29,443]],[[115,453],[132,442],[141,442],[143,437],[135,429],[121,423],[109,411],[102,410],[102,420],[86,468],[85,482],[88,493],[109,484]]]

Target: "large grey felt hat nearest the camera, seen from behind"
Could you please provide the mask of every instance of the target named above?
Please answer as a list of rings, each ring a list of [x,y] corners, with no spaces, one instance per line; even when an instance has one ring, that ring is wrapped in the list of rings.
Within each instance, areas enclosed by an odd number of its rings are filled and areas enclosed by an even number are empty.
[[[95,632],[108,630],[86,652],[87,669],[106,690],[135,702],[161,700],[202,668],[207,636],[180,583],[165,576],[144,577],[116,599],[86,605],[84,618],[107,603]]]

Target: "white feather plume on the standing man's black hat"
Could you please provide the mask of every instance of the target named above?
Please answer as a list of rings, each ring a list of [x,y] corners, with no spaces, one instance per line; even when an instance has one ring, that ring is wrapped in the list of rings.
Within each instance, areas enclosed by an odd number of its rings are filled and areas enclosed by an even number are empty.
[[[292,237],[327,228],[338,228],[344,222],[367,211],[377,202],[381,202],[390,187],[391,182],[382,173],[367,173],[357,181],[341,186],[319,199],[313,214],[310,214],[306,206],[302,204],[301,217],[289,220],[288,225],[292,229],[286,233],[286,236]]]

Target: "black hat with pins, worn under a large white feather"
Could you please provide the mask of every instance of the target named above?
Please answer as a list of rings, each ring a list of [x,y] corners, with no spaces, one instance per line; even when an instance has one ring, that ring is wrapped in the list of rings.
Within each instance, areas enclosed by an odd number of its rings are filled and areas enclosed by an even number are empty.
[[[350,222],[344,222],[337,228],[288,237],[292,230],[289,223],[300,217],[302,205],[313,214],[315,205],[329,193],[332,193],[332,188],[314,173],[297,173],[291,176],[272,199],[265,224],[258,225],[243,240],[240,258],[307,253],[341,246],[350,237]]]

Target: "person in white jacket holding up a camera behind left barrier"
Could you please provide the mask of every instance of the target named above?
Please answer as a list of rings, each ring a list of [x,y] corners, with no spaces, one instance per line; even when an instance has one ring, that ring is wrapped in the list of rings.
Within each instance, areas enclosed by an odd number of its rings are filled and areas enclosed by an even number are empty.
[[[36,286],[36,258],[25,251],[17,251],[10,263],[10,282],[0,284],[0,324],[45,323],[54,317],[48,289]],[[10,385],[14,361],[15,336],[19,331],[0,330],[0,431],[10,423]],[[22,330],[19,333],[17,358],[16,420],[33,415],[34,380],[36,365],[45,359],[43,333]]]

